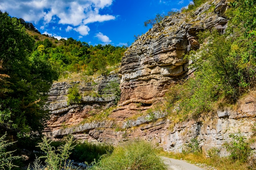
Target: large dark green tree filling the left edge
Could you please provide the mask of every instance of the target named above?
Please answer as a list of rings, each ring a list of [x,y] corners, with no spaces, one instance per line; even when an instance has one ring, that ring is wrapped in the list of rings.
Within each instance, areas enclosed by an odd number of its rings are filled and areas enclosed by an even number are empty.
[[[0,20],[0,134],[31,139],[43,130],[43,106],[57,75],[45,60],[31,56],[34,40],[17,18],[0,11]]]

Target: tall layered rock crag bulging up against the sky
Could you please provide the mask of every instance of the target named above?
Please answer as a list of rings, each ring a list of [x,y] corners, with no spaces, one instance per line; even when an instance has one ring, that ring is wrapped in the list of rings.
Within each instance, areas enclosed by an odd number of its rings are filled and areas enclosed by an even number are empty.
[[[216,5],[215,12],[207,13],[213,5]],[[153,102],[152,99],[162,97],[171,84],[186,78],[191,72],[184,55],[200,48],[196,34],[213,28],[225,31],[226,8],[225,1],[205,4],[191,15],[177,13],[165,18],[141,35],[121,61],[120,105],[137,103],[139,99]]]

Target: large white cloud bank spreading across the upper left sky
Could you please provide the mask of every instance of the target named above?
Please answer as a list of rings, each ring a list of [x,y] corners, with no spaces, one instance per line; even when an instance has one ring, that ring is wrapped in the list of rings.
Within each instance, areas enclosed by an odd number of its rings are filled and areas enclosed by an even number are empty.
[[[44,24],[58,22],[79,26],[91,22],[115,19],[115,16],[99,13],[113,0],[0,0],[0,10],[27,22]],[[83,23],[84,22],[84,23]]]

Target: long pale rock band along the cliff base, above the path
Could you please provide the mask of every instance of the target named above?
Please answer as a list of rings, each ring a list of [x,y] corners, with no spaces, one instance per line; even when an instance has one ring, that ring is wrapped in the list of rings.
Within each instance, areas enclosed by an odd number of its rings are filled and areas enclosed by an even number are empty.
[[[52,139],[72,134],[78,140],[107,142],[114,145],[139,138],[153,141],[164,150],[173,152],[182,152],[191,139],[196,138],[206,155],[209,149],[217,148],[220,150],[220,156],[227,156],[223,144],[232,140],[229,137],[231,133],[240,133],[247,138],[254,133],[252,127],[256,124],[256,91],[241,99],[239,103],[236,109],[218,110],[207,118],[186,120],[174,126],[171,119],[166,119],[166,113],[153,112],[146,116],[120,121],[92,121],[45,134]],[[132,110],[130,104],[129,108]],[[141,108],[137,106],[137,109]]]

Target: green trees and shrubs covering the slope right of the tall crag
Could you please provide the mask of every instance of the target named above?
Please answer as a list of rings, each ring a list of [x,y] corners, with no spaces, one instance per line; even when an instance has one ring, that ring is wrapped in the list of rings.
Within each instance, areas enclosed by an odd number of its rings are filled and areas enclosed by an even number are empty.
[[[198,1],[198,4],[202,1]],[[176,84],[166,94],[167,108],[177,105],[178,114],[185,117],[200,117],[209,113],[218,99],[235,103],[256,82],[256,37],[252,32],[256,23],[254,1],[233,2],[228,11],[230,21],[225,33],[217,30],[198,34],[198,51],[190,51],[185,57],[193,63],[193,77]],[[196,3],[195,3],[196,4]]]

